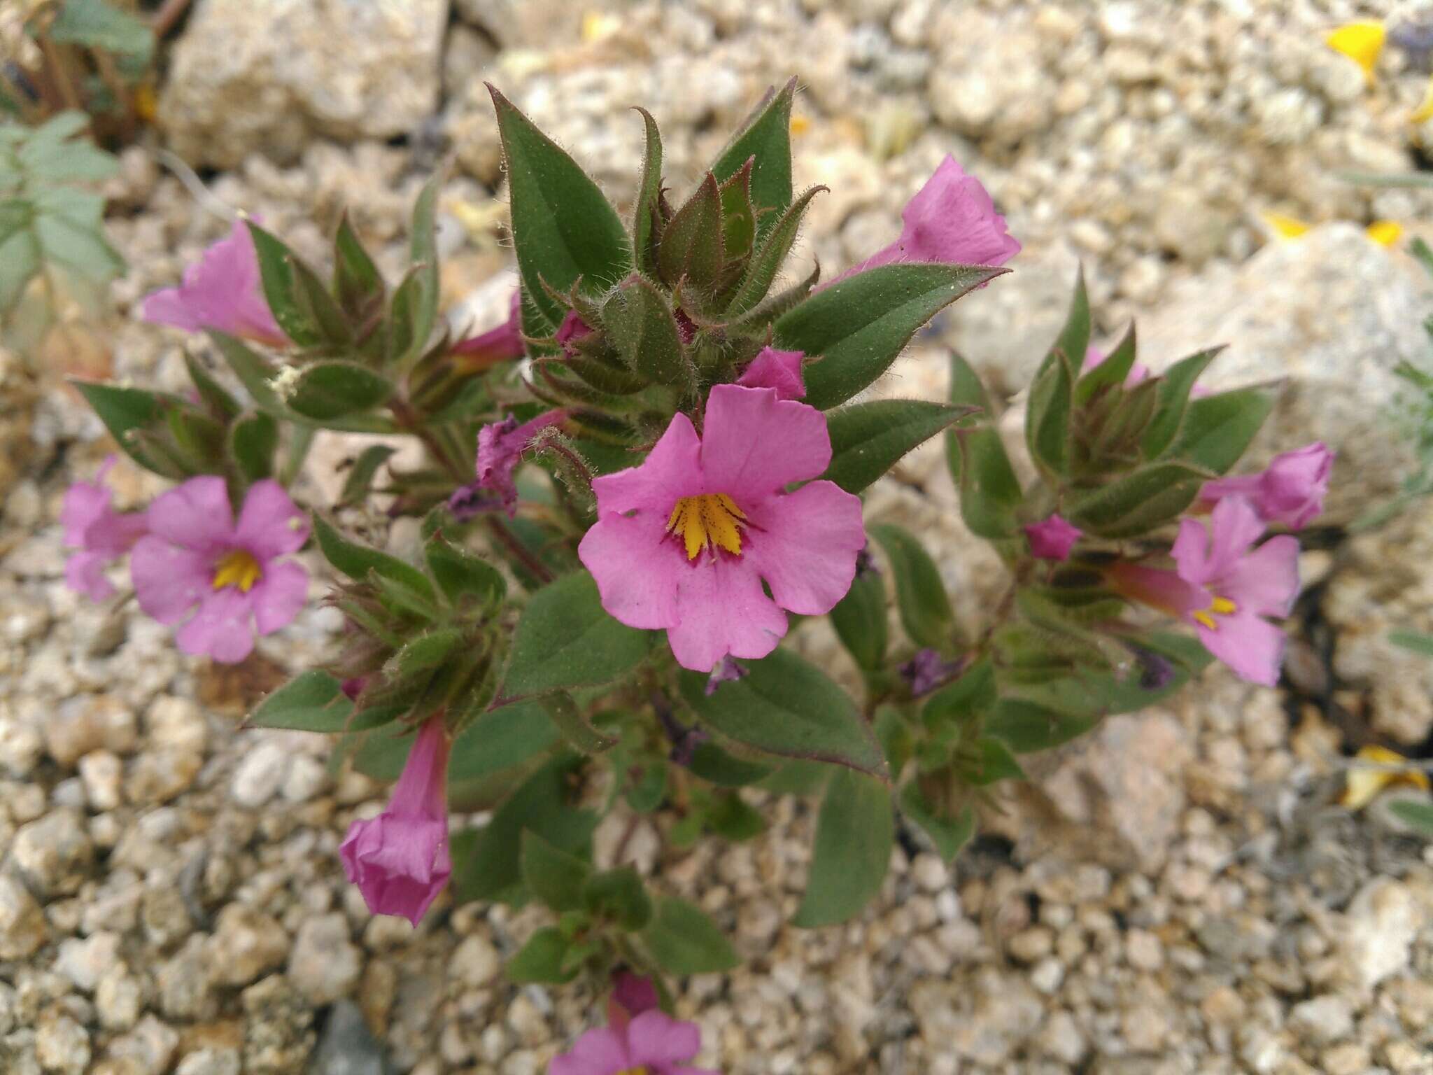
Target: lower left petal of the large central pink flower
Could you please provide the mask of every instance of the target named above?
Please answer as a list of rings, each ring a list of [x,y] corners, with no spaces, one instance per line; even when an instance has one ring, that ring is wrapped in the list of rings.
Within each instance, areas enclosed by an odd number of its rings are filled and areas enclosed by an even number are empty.
[[[668,539],[666,515],[645,507],[631,516],[606,513],[582,536],[577,559],[596,579],[602,608],[613,619],[643,631],[676,624],[678,588],[688,565]]]

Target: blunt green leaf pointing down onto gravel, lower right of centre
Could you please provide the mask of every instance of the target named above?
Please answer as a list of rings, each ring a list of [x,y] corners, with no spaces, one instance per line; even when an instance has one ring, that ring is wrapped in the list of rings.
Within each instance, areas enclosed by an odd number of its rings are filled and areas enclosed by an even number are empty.
[[[821,800],[807,890],[792,924],[815,929],[858,914],[881,890],[894,838],[890,788],[838,770]]]

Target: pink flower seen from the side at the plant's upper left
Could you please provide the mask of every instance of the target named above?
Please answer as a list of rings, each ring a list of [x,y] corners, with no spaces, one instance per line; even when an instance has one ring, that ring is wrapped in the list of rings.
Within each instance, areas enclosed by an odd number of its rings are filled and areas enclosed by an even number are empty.
[[[229,238],[183,271],[179,287],[145,298],[145,320],[186,333],[216,328],[271,347],[288,345],[264,298],[254,236],[244,221],[235,221]]]

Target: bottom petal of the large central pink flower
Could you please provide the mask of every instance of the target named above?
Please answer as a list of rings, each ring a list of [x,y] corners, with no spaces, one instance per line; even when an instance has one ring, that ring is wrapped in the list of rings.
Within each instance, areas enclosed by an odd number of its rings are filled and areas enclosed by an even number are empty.
[[[787,634],[787,615],[761,589],[751,562],[716,553],[686,563],[679,580],[681,619],[666,629],[682,668],[711,672],[727,654],[765,656]]]

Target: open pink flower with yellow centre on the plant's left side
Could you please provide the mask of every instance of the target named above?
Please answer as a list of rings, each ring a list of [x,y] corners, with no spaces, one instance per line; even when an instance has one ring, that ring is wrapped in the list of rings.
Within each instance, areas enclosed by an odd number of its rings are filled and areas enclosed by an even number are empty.
[[[308,520],[278,482],[255,482],[234,522],[224,479],[191,477],[155,497],[130,558],[139,608],[181,624],[186,654],[242,661],[304,606],[308,572],[281,560],[308,540]]]

